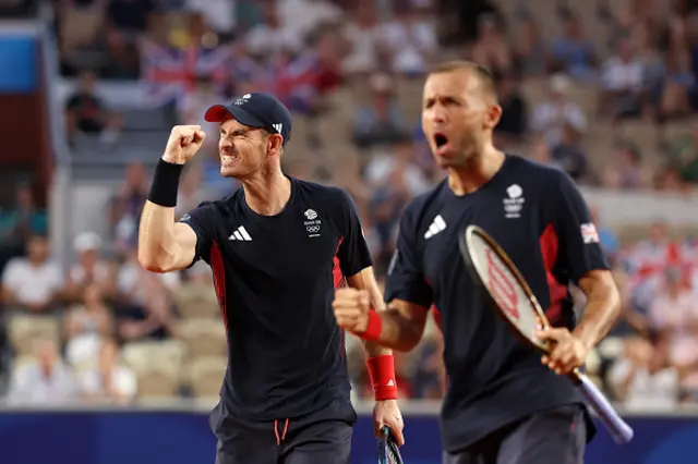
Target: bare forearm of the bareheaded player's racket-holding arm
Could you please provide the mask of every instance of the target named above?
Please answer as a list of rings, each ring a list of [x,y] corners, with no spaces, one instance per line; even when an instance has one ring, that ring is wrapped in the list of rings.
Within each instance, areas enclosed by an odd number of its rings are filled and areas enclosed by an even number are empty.
[[[613,281],[589,285],[585,293],[588,303],[574,333],[588,350],[591,350],[609,333],[616,321],[621,312],[621,296]]]

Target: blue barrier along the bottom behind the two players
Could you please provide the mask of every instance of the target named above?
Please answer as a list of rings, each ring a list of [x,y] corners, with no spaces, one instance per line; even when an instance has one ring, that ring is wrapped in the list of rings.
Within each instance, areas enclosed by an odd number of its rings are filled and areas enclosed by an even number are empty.
[[[615,445],[605,430],[587,451],[590,464],[695,464],[696,417],[628,417],[634,441]],[[407,464],[441,464],[434,416],[406,415]],[[206,464],[215,440],[203,413],[182,411],[58,411],[0,413],[2,464]],[[374,464],[371,418],[354,428],[354,464]],[[253,463],[251,463],[253,464]]]

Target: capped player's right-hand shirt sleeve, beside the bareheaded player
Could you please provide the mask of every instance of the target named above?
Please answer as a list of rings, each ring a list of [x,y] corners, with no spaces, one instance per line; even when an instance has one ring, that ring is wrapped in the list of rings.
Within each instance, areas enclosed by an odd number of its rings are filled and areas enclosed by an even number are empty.
[[[363,236],[361,218],[353,199],[342,191],[344,232],[337,257],[341,273],[351,277],[361,270],[373,266],[369,245]]]

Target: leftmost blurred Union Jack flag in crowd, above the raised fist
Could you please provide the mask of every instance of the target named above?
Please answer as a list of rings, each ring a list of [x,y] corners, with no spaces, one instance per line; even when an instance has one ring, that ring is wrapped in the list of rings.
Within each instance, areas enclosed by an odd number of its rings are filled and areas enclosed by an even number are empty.
[[[228,47],[176,48],[153,40],[142,44],[141,57],[141,75],[153,106],[181,101],[195,89],[200,76],[208,76],[216,85],[224,86],[231,60]]]

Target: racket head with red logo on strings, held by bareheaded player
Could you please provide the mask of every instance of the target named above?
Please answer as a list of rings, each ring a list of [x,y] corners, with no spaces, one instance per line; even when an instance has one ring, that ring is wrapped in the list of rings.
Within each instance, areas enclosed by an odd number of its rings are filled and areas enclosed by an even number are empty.
[[[538,326],[550,322],[538,298],[496,241],[478,225],[468,225],[459,239],[460,254],[472,278],[486,291],[495,312],[514,332],[538,350],[549,353],[550,344],[534,337]]]

